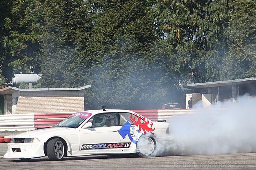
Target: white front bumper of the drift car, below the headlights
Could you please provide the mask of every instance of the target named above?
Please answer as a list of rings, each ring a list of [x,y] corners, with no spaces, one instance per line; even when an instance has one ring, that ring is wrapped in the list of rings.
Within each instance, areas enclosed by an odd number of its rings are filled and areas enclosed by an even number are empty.
[[[44,143],[8,143],[4,158],[38,158],[44,157]]]

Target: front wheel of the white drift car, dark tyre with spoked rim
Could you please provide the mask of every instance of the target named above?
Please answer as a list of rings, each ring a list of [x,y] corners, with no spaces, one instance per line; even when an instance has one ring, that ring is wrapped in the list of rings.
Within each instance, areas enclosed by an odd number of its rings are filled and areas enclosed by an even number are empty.
[[[51,161],[61,161],[64,157],[65,146],[61,139],[55,138],[48,142],[46,151]]]

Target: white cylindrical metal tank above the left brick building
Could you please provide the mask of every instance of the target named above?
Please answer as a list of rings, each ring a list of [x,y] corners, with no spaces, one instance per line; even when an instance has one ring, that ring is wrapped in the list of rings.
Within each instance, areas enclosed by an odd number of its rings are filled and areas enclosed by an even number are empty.
[[[13,84],[20,83],[33,83],[38,84],[38,80],[41,78],[41,74],[15,74],[14,78],[12,78]]]

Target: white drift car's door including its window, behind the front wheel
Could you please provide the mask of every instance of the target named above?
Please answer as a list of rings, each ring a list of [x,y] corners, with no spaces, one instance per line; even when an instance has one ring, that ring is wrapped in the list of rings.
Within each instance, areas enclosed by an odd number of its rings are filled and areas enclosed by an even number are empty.
[[[118,133],[120,126],[118,126],[118,114],[116,112],[97,114],[89,122],[93,124],[92,127],[82,128],[79,131],[80,153],[102,154],[121,152],[121,136]]]

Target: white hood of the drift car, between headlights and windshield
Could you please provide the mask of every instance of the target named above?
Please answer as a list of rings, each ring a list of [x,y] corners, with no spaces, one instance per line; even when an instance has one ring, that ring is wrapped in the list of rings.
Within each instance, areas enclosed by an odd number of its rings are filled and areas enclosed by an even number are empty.
[[[49,135],[54,135],[54,134],[63,134],[64,131],[65,133],[71,129],[74,128],[69,128],[69,127],[49,127],[45,129],[37,129],[37,130],[31,130],[31,131],[26,131],[25,133],[17,134],[13,138],[40,138],[40,137],[45,137]]]

